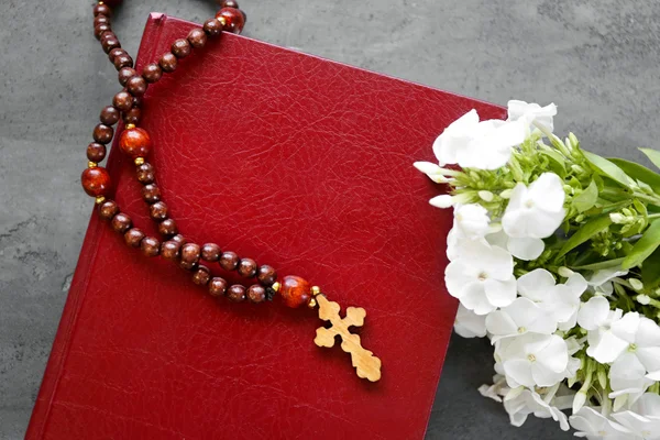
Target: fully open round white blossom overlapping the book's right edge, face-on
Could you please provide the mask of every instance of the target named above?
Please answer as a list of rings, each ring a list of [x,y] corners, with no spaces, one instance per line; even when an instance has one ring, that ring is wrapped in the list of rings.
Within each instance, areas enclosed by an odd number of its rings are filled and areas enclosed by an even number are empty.
[[[462,242],[460,255],[444,271],[444,280],[450,295],[477,315],[506,307],[516,299],[514,258],[481,240]]]

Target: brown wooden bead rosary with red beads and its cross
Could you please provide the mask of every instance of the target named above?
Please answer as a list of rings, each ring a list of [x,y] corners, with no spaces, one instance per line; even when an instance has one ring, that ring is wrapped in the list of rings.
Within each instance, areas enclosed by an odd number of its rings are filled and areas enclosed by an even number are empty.
[[[117,35],[112,32],[110,16],[111,7],[121,0],[99,1],[94,7],[94,31],[100,41],[110,62],[119,72],[119,82],[123,90],[114,96],[112,105],[101,110],[100,123],[94,129],[94,140],[87,146],[87,168],[82,172],[81,184],[85,191],[96,198],[98,215],[108,221],[110,227],[122,234],[127,245],[140,249],[147,257],[163,256],[179,267],[193,274],[193,283],[206,286],[213,297],[226,296],[232,302],[250,301],[261,304],[279,296],[288,307],[307,306],[318,308],[319,318],[330,322],[330,327],[317,329],[315,343],[319,346],[331,348],[336,337],[342,340],[341,348],[351,354],[358,376],[376,382],[381,378],[381,360],[362,348],[360,337],[351,333],[350,327],[361,327],[366,311],[363,308],[349,307],[345,318],[340,316],[340,306],[328,300],[318,286],[310,286],[304,278],[287,275],[279,278],[275,270],[266,264],[257,264],[254,260],[240,257],[231,251],[221,251],[216,243],[199,245],[187,241],[178,232],[173,218],[169,217],[167,205],[162,200],[161,190],[155,183],[155,169],[146,161],[152,150],[148,133],[138,127],[142,116],[141,100],[150,84],[157,82],[163,74],[169,74],[177,67],[178,59],[190,55],[194,48],[202,48],[208,38],[220,38],[222,32],[241,33],[245,24],[245,13],[232,0],[218,0],[220,11],[215,18],[207,20],[201,29],[193,29],[186,38],[172,43],[170,51],[163,54],[157,63],[144,66],[142,74],[133,68],[133,59],[121,48]],[[106,157],[106,145],[114,136],[112,128],[120,120],[125,127],[119,135],[119,147],[122,153],[133,160],[135,176],[142,186],[142,198],[146,202],[150,217],[157,223],[163,242],[154,237],[147,237],[133,226],[131,218],[121,212],[118,204],[110,199],[112,185],[110,175],[99,162]],[[235,271],[245,279],[255,280],[250,287],[232,284],[211,274],[210,266],[217,264],[226,272]]]

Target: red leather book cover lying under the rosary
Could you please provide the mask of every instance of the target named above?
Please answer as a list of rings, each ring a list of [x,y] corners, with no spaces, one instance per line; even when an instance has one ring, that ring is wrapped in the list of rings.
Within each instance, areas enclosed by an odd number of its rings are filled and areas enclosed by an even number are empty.
[[[139,67],[191,26],[151,15]],[[316,346],[315,310],[212,299],[94,213],[26,438],[422,438],[457,302],[442,283],[452,220],[413,162],[468,110],[504,110],[231,34],[202,51],[144,99],[180,231],[364,307],[383,377]],[[153,232],[117,150],[116,198]]]

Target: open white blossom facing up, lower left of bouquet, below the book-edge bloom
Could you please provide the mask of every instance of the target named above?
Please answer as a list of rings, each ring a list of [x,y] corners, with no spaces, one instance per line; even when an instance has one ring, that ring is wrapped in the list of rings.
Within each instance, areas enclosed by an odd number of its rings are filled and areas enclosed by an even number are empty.
[[[552,386],[565,378],[569,366],[566,343],[556,334],[527,333],[501,341],[496,346],[512,388]]]

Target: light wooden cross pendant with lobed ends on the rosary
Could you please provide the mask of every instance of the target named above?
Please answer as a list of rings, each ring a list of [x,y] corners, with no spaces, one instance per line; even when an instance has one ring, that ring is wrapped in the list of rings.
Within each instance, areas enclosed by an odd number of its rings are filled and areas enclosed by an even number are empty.
[[[319,305],[319,318],[323,321],[330,321],[332,326],[327,329],[320,327],[317,329],[317,337],[314,342],[318,346],[331,348],[334,345],[334,337],[341,338],[341,348],[351,354],[353,366],[358,370],[358,376],[376,382],[381,378],[381,360],[374,356],[374,353],[362,348],[360,336],[351,333],[349,327],[362,327],[366,311],[361,307],[349,307],[346,317],[341,318],[339,311],[341,307],[334,301],[329,301],[324,295],[317,295]]]

